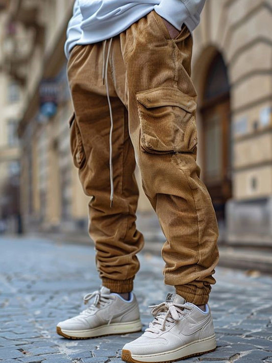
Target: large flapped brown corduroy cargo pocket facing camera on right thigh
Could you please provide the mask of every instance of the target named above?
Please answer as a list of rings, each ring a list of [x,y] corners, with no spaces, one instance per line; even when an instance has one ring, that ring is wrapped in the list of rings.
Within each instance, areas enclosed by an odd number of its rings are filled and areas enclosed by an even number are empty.
[[[197,143],[196,97],[158,87],[136,94],[141,147],[149,153],[191,152]]]

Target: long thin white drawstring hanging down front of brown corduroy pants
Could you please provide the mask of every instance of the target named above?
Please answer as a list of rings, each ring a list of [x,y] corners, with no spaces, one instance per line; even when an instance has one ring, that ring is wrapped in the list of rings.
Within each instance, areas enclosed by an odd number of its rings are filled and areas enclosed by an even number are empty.
[[[103,84],[105,84],[105,79],[106,79],[107,99],[108,99],[109,110],[110,110],[110,119],[111,119],[111,128],[110,128],[110,185],[111,185],[110,207],[112,207],[113,194],[114,194],[114,186],[113,186],[113,165],[112,165],[113,116],[112,116],[112,108],[111,108],[109,84],[108,84],[108,65],[109,65],[109,60],[110,60],[110,51],[111,51],[112,38],[110,39],[110,42],[109,42],[108,54],[107,54],[107,59],[106,59],[106,64],[105,64],[106,43],[107,43],[107,40],[105,40],[103,42],[103,72],[102,72],[102,78],[103,78]]]

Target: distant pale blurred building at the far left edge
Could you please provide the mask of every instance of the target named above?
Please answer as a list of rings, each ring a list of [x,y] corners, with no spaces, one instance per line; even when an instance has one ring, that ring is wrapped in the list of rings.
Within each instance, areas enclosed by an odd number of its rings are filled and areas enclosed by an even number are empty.
[[[0,10],[1,6],[0,3]],[[12,33],[4,28],[6,14],[0,13],[0,39]],[[21,88],[17,79],[9,74],[8,41],[0,47],[0,233],[20,230],[19,174],[20,149],[17,127],[21,117]],[[7,50],[7,52],[5,52]]]

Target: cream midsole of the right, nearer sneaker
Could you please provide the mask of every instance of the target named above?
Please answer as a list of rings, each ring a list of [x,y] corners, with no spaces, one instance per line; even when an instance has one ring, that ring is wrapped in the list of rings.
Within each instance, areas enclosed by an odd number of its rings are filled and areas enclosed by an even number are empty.
[[[194,341],[192,343],[186,344],[178,349],[169,350],[167,352],[156,353],[156,354],[146,354],[146,355],[136,355],[131,354],[131,357],[135,360],[142,362],[164,362],[167,360],[175,360],[188,355],[208,352],[216,348],[215,334],[209,336],[208,338]]]

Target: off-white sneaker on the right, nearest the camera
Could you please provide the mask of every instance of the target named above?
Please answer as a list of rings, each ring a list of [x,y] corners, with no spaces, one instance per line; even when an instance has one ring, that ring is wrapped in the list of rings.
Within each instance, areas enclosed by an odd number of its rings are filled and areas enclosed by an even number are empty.
[[[123,347],[122,360],[171,362],[215,350],[208,304],[202,311],[181,296],[168,294],[165,302],[151,307],[155,319],[139,338]]]

